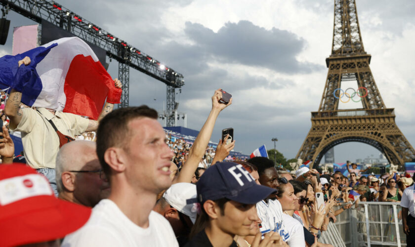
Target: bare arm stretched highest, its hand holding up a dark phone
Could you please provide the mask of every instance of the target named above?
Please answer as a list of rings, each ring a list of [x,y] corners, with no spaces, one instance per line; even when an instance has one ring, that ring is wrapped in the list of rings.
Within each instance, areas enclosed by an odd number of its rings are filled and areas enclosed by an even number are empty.
[[[184,163],[179,176],[177,177],[177,183],[190,183],[192,181],[192,175],[195,173],[199,165],[199,161],[202,159],[203,155],[206,152],[206,147],[209,143],[210,136],[212,135],[213,127],[215,126],[219,113],[227,106],[232,104],[232,98],[227,105],[219,103],[221,98],[222,92],[219,88],[212,96],[212,109],[210,110],[205,124],[203,125],[198,136],[196,137],[195,142],[193,143],[192,148],[190,149],[189,156]]]

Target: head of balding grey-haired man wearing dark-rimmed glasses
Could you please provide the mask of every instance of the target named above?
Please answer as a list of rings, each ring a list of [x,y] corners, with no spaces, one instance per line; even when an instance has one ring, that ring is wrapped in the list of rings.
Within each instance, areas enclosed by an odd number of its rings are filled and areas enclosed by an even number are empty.
[[[108,198],[110,185],[94,142],[74,141],[62,146],[56,156],[56,185],[60,199],[84,206],[94,207]]]

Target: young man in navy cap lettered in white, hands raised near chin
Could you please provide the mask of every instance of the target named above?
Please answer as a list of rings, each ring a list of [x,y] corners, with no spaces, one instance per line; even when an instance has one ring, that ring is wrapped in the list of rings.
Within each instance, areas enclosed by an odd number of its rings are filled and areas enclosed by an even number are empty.
[[[258,232],[255,204],[276,192],[256,184],[242,165],[232,162],[218,162],[207,168],[196,187],[202,207],[197,224],[204,227],[186,247],[236,247],[236,235]],[[258,245],[260,237],[258,232],[252,246]],[[279,241],[279,236],[272,233],[265,236],[263,244]]]

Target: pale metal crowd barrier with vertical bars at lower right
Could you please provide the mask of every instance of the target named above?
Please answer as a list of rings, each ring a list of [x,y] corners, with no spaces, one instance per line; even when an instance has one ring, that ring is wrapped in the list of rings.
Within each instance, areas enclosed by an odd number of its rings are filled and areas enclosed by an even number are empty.
[[[320,241],[335,247],[407,246],[401,209],[399,203],[360,202],[337,215]]]

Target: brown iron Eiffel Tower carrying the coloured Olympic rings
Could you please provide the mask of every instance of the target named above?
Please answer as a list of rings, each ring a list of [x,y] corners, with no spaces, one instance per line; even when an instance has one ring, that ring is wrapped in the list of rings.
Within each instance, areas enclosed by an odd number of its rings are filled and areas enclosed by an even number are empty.
[[[415,150],[395,123],[394,108],[386,108],[374,82],[360,34],[355,0],[334,0],[332,54],[326,85],[317,112],[311,112],[311,129],[296,158],[312,160],[317,167],[324,154],[344,142],[363,142],[382,152],[389,163],[404,165]],[[339,89],[356,81],[357,89]],[[363,108],[339,110],[339,100],[361,101]]]

